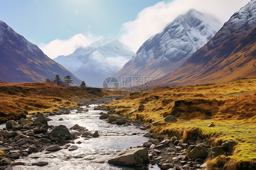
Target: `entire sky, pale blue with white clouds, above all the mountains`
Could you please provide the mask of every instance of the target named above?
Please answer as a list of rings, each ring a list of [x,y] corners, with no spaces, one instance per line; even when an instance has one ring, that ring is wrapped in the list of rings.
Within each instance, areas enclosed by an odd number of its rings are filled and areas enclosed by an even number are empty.
[[[136,52],[145,40],[194,8],[222,24],[250,0],[0,0],[0,20],[50,58],[102,38]],[[83,40],[81,40],[81,38]]]

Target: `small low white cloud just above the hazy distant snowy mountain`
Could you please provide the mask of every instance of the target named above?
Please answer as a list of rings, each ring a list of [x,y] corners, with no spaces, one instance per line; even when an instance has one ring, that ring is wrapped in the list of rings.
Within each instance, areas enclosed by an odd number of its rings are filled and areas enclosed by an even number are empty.
[[[59,55],[69,55],[73,53],[78,47],[86,47],[94,41],[102,39],[102,36],[93,36],[92,34],[78,34],[74,35],[68,40],[52,40],[48,44],[41,44],[39,48],[51,59]],[[87,42],[87,44],[85,42]]]

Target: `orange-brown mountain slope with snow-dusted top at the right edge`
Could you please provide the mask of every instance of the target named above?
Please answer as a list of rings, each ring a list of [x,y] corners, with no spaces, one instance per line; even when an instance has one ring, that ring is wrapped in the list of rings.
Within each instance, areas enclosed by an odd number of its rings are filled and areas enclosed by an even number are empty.
[[[256,77],[256,0],[231,16],[218,33],[155,85],[218,83]]]

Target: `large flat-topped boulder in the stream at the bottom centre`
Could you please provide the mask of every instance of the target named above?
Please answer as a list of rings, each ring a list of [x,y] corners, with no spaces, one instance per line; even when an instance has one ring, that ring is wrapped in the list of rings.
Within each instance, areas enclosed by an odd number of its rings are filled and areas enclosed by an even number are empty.
[[[113,165],[138,165],[148,162],[148,148],[133,148],[123,150],[112,159],[108,160]]]

